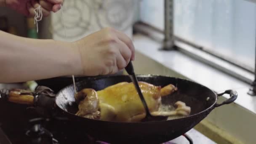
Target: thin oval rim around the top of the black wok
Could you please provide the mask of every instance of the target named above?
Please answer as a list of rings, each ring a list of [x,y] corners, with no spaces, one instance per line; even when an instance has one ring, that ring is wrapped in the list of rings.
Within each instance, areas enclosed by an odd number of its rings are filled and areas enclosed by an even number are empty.
[[[108,75],[108,76],[102,76],[102,77],[88,77],[88,79],[86,80],[81,80],[79,82],[76,82],[77,83],[83,83],[85,81],[88,81],[88,80],[100,80],[100,79],[105,79],[105,78],[109,78],[109,77],[126,77],[128,75]],[[89,120],[89,121],[99,121],[101,123],[113,123],[113,124],[131,124],[131,125],[134,125],[134,124],[150,124],[150,123],[168,123],[168,122],[171,122],[171,121],[179,121],[179,120],[185,120],[185,119],[189,119],[190,117],[195,117],[195,116],[199,116],[201,115],[202,113],[206,112],[206,111],[209,111],[209,113],[215,108],[215,105],[216,105],[216,102],[218,101],[218,96],[217,94],[212,91],[210,88],[204,86],[204,85],[201,85],[199,83],[196,83],[195,81],[192,81],[192,80],[186,80],[184,78],[179,78],[179,77],[170,77],[170,76],[164,76],[164,75],[136,75],[136,77],[168,77],[168,78],[176,78],[176,79],[179,79],[179,80],[185,80],[185,81],[188,81],[188,82],[192,82],[192,83],[195,83],[199,86],[202,86],[203,88],[207,88],[209,91],[211,91],[214,96],[215,96],[215,101],[214,103],[208,107],[207,109],[201,111],[201,112],[198,112],[198,113],[195,113],[194,115],[189,115],[189,116],[186,116],[186,117],[182,117],[182,118],[178,118],[178,119],[173,119],[173,120],[158,120],[158,121],[149,121],[149,122],[113,122],[113,121],[105,121],[105,120],[94,120],[94,119],[89,119],[89,118],[85,118],[85,117],[80,117],[80,116],[77,116],[75,114],[72,114],[71,112],[67,112],[65,111],[64,109],[62,109],[61,107],[59,107],[59,105],[57,104],[57,97],[60,95],[60,93],[64,90],[64,89],[67,89],[69,87],[74,87],[73,84],[70,84],[70,85],[67,85],[66,87],[64,88],[61,88],[60,91],[58,91],[58,93],[56,93],[56,98],[55,98],[55,104],[56,106],[61,109],[61,111],[67,113],[68,115],[70,116],[73,116],[73,117],[77,117],[78,119],[84,119],[84,120]]]

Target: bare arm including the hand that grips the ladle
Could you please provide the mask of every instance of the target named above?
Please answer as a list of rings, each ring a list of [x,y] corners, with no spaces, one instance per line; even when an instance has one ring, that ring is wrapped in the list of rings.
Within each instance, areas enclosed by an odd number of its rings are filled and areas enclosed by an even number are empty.
[[[134,60],[132,40],[104,28],[72,43],[19,37],[0,31],[0,83],[66,75],[108,75]]]

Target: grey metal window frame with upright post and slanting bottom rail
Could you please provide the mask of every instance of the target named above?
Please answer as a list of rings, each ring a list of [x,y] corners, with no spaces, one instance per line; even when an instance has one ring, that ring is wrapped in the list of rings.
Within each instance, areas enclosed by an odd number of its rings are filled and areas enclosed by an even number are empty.
[[[180,51],[181,53],[186,54],[187,56],[190,56],[194,59],[197,59],[200,62],[203,62],[205,64],[210,65],[211,67],[214,67],[228,75],[231,75],[233,77],[236,77],[237,79],[248,83],[251,85],[250,91],[248,94],[252,96],[256,96],[256,56],[255,56],[255,69],[246,66],[245,64],[240,63],[239,61],[234,61],[233,59],[229,59],[225,57],[224,55],[221,55],[219,53],[216,53],[214,51],[211,51],[209,48],[205,48],[201,45],[198,45],[196,43],[193,43],[189,40],[185,40],[181,37],[177,37],[174,35],[173,32],[173,14],[174,14],[174,8],[173,8],[173,2],[174,0],[164,0],[164,30],[158,29],[151,24],[147,24],[142,21],[137,21],[133,25],[133,29],[135,32],[140,32],[144,35],[147,35],[152,38],[152,40],[157,40],[159,43],[162,43],[162,50],[165,51]],[[167,30],[166,30],[167,29]],[[256,37],[255,37],[256,40]],[[242,71],[248,73],[248,75],[252,75],[253,77],[245,77],[243,74],[236,72],[230,68],[226,68],[224,66],[221,66],[220,64],[216,64],[215,61],[211,61],[208,59],[203,58],[202,56],[198,55],[197,53],[192,53],[190,51],[187,51],[184,48],[181,48],[175,44],[175,42],[184,43],[187,45],[190,45],[191,47],[195,48],[195,50],[202,51],[203,53],[206,53],[208,55],[211,55],[215,57],[216,59],[219,59],[221,61],[224,61],[233,67],[236,67],[237,69],[241,69]],[[256,48],[255,48],[256,53]]]

